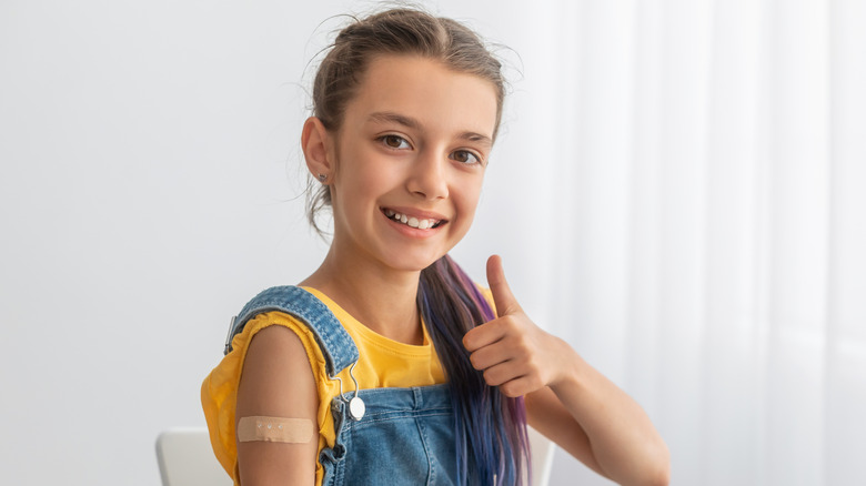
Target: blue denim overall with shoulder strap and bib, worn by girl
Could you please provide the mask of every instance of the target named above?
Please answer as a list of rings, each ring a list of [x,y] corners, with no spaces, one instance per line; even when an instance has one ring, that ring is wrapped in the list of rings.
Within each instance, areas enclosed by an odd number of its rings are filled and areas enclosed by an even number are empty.
[[[359,360],[358,347],[328,306],[295,286],[269,288],[232,320],[225,342],[256,314],[281,311],[303,322],[315,335],[330,379]],[[352,376],[352,369],[349,371]],[[354,381],[354,376],[352,376]],[[336,441],[319,455],[322,486],[454,485],[454,416],[446,384],[411,388],[358,389],[331,402]]]

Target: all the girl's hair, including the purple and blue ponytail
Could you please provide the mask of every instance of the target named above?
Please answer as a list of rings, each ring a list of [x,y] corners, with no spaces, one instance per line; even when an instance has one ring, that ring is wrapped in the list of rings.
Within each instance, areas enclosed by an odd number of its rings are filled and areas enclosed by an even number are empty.
[[[358,94],[370,62],[389,54],[419,55],[490,81],[496,94],[495,139],[505,97],[502,64],[465,26],[412,9],[355,20],[336,36],[313,82],[313,115],[328,131],[340,131],[346,105]],[[308,217],[321,235],[315,216],[331,204],[330,186],[314,191],[318,184],[310,181]],[[523,484],[524,467],[531,470],[523,398],[507,397],[499,387],[487,385],[462,345],[469,330],[495,317],[490,303],[447,255],[421,272],[416,298],[451,391],[456,453],[453,479],[461,485]]]

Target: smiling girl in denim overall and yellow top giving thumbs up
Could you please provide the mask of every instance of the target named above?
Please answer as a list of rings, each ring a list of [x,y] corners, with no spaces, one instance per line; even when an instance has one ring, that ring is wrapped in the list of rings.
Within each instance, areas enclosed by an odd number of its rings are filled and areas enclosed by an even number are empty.
[[[615,482],[667,483],[644,412],[523,313],[501,260],[485,292],[447,256],[503,95],[500,62],[453,20],[397,9],[339,33],[301,134],[330,251],[244,307],[202,387],[235,484],[520,484],[526,424]]]

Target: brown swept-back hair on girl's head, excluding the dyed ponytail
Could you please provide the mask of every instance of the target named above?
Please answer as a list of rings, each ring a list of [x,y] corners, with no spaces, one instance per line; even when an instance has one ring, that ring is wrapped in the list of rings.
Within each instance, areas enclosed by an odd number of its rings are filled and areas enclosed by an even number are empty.
[[[313,81],[313,115],[325,129],[340,130],[345,107],[363,82],[370,61],[381,54],[415,54],[490,81],[496,92],[495,140],[505,98],[502,63],[467,27],[414,9],[393,9],[355,19],[336,36]],[[322,234],[315,215],[331,205],[331,193],[326,185],[318,190],[316,185],[310,179],[306,210],[310,224]]]

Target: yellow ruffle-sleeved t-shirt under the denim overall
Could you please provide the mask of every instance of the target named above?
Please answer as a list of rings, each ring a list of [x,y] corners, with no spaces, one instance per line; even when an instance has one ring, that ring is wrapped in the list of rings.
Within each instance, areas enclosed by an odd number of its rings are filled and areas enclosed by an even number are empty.
[[[336,303],[315,288],[303,287],[322,301],[343,325],[358,346],[360,358],[353,375],[361,389],[383,387],[427,386],[445,383],[445,374],[424,328],[424,344],[420,346],[389,340],[364,326]],[[211,435],[211,445],[222,467],[240,484],[238,475],[238,448],[235,443],[235,405],[243,361],[252,337],[270,325],[292,330],[303,343],[319,388],[319,452],[333,447],[336,434],[331,415],[331,401],[340,394],[340,383],[330,379],[325,360],[315,336],[305,324],[282,312],[268,312],[250,320],[243,332],[232,340],[232,352],[204,378],[201,388],[202,407]],[[423,326],[422,326],[423,327]],[[349,368],[338,375],[343,381],[343,392],[353,392],[354,383]],[[316,454],[316,457],[319,455]],[[322,484],[324,469],[316,459],[315,482]]]

